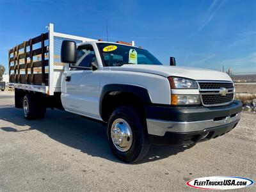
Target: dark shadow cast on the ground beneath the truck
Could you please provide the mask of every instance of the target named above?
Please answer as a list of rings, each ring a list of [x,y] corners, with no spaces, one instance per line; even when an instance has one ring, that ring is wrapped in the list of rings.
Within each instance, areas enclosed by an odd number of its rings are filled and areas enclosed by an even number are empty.
[[[98,122],[82,118],[79,115],[49,109],[43,120],[29,121],[22,116],[22,109],[0,108],[0,119],[13,124],[12,127],[3,127],[0,125],[0,129],[3,131],[19,133],[37,130],[46,134],[52,140],[81,150],[81,152],[90,156],[102,157],[109,161],[122,163],[122,161],[116,159],[108,147],[106,127]],[[22,129],[22,126],[26,127]],[[152,145],[147,157],[138,164],[164,159],[183,152],[186,149],[184,147]]]

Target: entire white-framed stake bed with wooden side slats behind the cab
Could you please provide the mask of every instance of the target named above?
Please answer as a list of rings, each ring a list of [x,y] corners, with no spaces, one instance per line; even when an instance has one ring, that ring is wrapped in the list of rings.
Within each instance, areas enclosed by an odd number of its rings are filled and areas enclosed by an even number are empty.
[[[48,95],[61,92],[61,75],[66,65],[60,60],[63,40],[73,40],[77,44],[96,41],[56,33],[53,24],[49,24],[47,28],[47,33],[24,41],[8,51],[10,87]]]

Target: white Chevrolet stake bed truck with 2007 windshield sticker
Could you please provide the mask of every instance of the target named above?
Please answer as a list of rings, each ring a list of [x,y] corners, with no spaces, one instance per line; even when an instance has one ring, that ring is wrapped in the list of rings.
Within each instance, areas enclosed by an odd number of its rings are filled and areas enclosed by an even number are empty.
[[[34,50],[36,42],[41,47]],[[151,143],[195,145],[222,136],[241,117],[227,74],[166,66],[124,42],[56,33],[50,24],[48,33],[17,45],[9,58],[9,86],[27,119],[58,108],[98,120],[107,125],[115,156],[129,163],[143,159]]]

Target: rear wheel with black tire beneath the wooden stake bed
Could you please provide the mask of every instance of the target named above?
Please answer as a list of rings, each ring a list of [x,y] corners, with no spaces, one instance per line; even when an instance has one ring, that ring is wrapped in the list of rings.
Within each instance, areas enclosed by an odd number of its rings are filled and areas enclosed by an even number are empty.
[[[24,116],[27,120],[44,118],[46,113],[44,102],[42,102],[40,97],[36,97],[36,95],[26,94],[22,102],[22,107]]]

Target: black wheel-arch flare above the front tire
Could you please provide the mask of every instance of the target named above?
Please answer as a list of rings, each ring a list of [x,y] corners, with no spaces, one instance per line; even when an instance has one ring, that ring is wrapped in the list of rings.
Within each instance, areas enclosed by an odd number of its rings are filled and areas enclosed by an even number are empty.
[[[100,93],[100,116],[102,116],[102,101],[104,96],[111,92],[125,92],[132,93],[139,97],[143,103],[151,103],[151,99],[148,90],[136,85],[131,84],[106,84]]]

